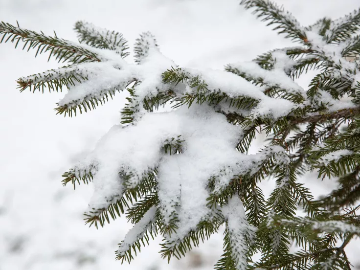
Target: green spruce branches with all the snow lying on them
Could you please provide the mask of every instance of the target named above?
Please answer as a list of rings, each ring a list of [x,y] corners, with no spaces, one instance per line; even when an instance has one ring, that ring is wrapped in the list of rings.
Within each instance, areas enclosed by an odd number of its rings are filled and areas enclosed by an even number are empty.
[[[225,225],[217,270],[350,270],[344,248],[360,235],[360,9],[303,27],[269,0],[241,4],[296,45],[201,71],[165,58],[149,32],[136,40],[129,64],[123,35],[88,22],[75,23],[80,43],[5,22],[0,40],[67,63],[17,81],[21,91],[67,89],[58,114],[129,93],[123,126],[62,181],[93,182],[90,226],[123,215],[134,224],[117,260],[130,263],[157,235],[161,256],[179,259]],[[304,90],[294,79],[310,69],[318,73]],[[171,110],[158,113],[160,105]],[[248,155],[259,133],[268,145]],[[221,160],[222,152],[230,158]],[[309,170],[337,188],[315,199],[298,180]],[[265,179],[276,183],[268,198]]]

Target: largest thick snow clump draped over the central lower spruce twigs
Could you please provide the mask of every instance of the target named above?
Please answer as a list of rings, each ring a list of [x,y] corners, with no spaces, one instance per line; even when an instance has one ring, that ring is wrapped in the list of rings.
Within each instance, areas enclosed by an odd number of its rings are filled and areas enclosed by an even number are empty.
[[[89,170],[86,165],[96,160],[98,165],[93,182],[97,199],[108,196],[108,190],[113,192],[113,188],[107,186],[116,185],[118,172],[132,172],[135,177],[126,184],[135,187],[141,180],[138,176],[157,168],[158,196],[165,223],[171,218],[168,213],[173,212],[174,200],[180,200],[180,229],[176,236],[182,239],[208,214],[208,179],[225,165],[237,165],[242,169],[251,165],[249,156],[235,150],[241,134],[239,126],[227,123],[224,115],[207,105],[148,113],[134,126],[112,127],[95,150],[76,167]],[[185,141],[184,153],[175,156],[163,154],[161,148],[165,141],[178,135]],[[101,208],[103,203],[100,199],[97,208]],[[96,200],[91,200],[90,207],[96,208],[95,205]]]

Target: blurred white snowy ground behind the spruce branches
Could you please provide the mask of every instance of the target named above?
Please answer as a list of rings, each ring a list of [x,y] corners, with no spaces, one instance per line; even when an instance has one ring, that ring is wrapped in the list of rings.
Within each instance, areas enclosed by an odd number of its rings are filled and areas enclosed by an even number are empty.
[[[304,25],[327,16],[343,16],[359,0],[276,0]],[[161,52],[178,65],[219,68],[249,61],[270,49],[291,45],[256,20],[239,0],[0,0],[0,20],[76,41],[77,20],[117,30],[129,45],[150,30]],[[53,108],[64,93],[20,93],[16,79],[59,67],[47,55],[0,45],[0,270],[176,270],[213,269],[222,254],[220,232],[168,265],[158,251],[159,239],[142,248],[132,264],[114,260],[114,250],[130,229],[117,219],[96,230],[83,222],[92,189],[63,187],[61,175],[92,150],[120,119],[125,93],[95,111],[64,118]],[[20,46],[19,46],[20,47]],[[132,60],[132,55],[126,58]],[[314,73],[312,73],[314,74]],[[310,75],[300,78],[306,87]],[[334,182],[314,174],[302,179],[316,195]],[[264,183],[270,187],[272,183]],[[359,241],[347,246],[354,269],[360,269]]]

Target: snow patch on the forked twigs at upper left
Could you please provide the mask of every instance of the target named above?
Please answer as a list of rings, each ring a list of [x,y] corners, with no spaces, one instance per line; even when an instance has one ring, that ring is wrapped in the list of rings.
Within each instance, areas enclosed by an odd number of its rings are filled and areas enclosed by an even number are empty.
[[[148,43],[147,40],[145,41]],[[158,90],[166,90],[161,74],[175,65],[174,62],[162,56],[155,45],[150,46],[146,55],[141,56],[139,62],[141,65],[128,64],[108,49],[95,48],[94,50],[99,55],[107,55],[105,59],[108,60],[77,65],[77,72],[88,80],[70,86],[67,94],[58,102],[59,106],[74,107],[91,98],[102,100],[105,94],[122,91],[135,81],[138,85],[135,86],[136,98],[134,99],[142,102],[145,96],[156,95]],[[57,71],[67,72],[67,69]]]

